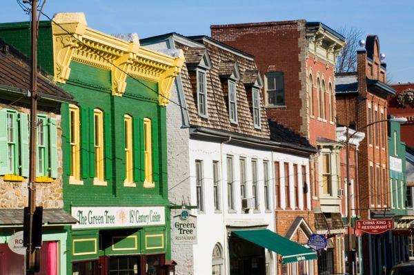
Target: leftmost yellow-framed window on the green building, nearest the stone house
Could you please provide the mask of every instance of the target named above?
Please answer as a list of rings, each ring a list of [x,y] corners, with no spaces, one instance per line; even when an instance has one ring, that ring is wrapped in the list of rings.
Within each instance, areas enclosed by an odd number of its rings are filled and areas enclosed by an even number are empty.
[[[69,124],[70,124],[70,182],[81,183],[81,137],[79,123],[79,108],[75,105],[69,106]]]

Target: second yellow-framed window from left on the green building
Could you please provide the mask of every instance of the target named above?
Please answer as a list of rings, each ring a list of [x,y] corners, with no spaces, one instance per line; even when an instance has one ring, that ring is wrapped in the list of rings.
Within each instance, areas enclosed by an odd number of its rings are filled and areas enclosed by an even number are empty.
[[[93,137],[95,146],[95,178],[103,182],[103,112],[93,110]]]

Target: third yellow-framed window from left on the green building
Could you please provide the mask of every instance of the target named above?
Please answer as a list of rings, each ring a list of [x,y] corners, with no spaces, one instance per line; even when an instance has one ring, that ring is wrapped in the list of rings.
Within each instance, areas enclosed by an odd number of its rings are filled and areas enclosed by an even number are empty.
[[[124,185],[134,186],[132,152],[132,116],[124,115],[125,181]]]

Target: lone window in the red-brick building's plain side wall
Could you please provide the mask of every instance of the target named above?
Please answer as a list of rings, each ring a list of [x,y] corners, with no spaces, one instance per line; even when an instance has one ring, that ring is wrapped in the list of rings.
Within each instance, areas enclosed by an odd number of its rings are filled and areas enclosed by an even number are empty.
[[[284,74],[283,72],[268,72],[266,74],[266,105],[285,105]]]

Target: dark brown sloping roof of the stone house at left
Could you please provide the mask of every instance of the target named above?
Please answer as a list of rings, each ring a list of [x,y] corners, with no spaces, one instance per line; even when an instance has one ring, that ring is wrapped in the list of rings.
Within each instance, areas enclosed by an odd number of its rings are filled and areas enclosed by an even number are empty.
[[[29,64],[27,57],[0,39],[0,84],[30,90]],[[37,91],[61,99],[73,99],[70,94],[43,73],[38,73]]]

